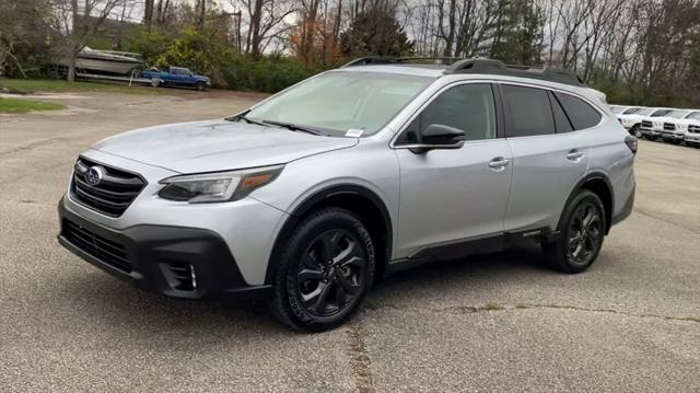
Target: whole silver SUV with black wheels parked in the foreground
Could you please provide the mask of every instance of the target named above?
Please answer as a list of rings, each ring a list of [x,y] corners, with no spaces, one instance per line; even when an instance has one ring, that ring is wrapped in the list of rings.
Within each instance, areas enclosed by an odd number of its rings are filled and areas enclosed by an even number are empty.
[[[535,242],[583,271],[632,209],[635,150],[573,73],[363,58],[230,118],[96,143],[58,239],[142,288],[260,294],[319,331],[417,264]]]

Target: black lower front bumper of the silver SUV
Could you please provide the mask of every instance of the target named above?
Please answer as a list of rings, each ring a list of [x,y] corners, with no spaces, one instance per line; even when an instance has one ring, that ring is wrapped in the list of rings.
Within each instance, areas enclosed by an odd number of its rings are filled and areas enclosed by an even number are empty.
[[[59,243],[103,270],[170,297],[262,296],[268,285],[246,284],[226,243],[215,232],[139,224],[114,230],[58,206]]]

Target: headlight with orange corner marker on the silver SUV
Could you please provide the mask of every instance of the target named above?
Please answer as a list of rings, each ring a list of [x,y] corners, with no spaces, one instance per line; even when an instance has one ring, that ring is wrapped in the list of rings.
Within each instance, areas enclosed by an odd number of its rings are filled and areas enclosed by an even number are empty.
[[[190,204],[238,200],[275,181],[283,167],[284,165],[273,165],[173,176],[160,182],[165,187],[158,195],[164,199]]]

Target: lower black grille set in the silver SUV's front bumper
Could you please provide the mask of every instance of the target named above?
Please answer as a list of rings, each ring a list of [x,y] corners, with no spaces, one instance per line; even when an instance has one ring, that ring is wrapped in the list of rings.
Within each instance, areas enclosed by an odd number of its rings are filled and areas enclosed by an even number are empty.
[[[124,244],[105,239],[69,220],[63,220],[63,236],[78,248],[124,273],[131,273]]]

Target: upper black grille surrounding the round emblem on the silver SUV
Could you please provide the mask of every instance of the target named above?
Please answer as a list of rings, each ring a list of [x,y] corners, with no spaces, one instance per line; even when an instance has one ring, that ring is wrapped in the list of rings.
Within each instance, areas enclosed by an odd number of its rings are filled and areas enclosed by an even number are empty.
[[[103,173],[101,182],[95,185],[89,184],[85,178],[85,174],[93,166],[98,167]],[[81,158],[75,162],[71,196],[100,212],[119,217],[136,199],[143,186],[145,182],[139,175]]]

